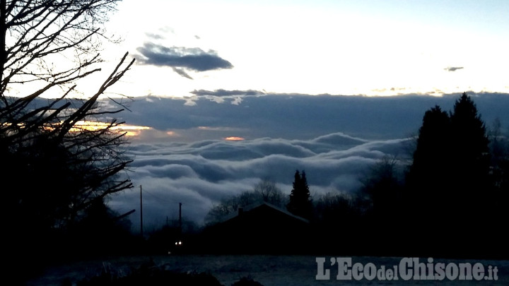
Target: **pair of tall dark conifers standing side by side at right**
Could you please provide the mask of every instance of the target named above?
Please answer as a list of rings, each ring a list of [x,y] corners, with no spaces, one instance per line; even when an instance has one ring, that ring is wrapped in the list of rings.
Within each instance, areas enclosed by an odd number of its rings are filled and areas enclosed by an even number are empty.
[[[430,230],[445,238],[424,251],[461,255],[458,239],[473,239],[481,245],[481,232],[472,225],[486,225],[493,193],[490,183],[490,155],[484,122],[466,94],[455,102],[450,114],[436,106],[423,117],[406,186],[409,225]],[[422,234],[420,234],[422,235]],[[482,251],[482,249],[478,249]],[[475,249],[471,249],[473,253]]]

